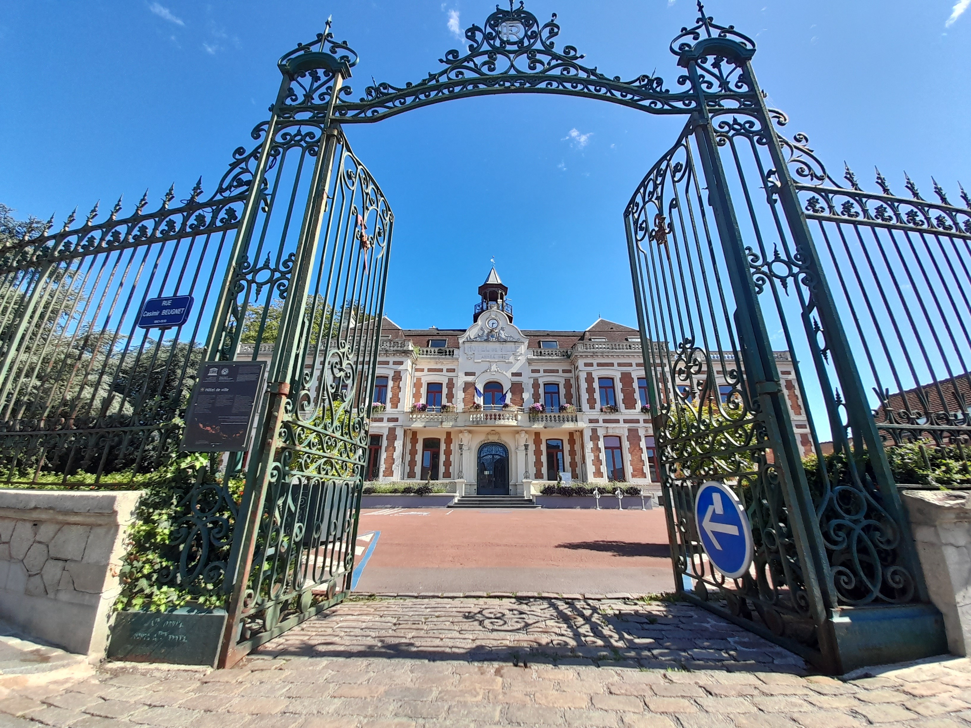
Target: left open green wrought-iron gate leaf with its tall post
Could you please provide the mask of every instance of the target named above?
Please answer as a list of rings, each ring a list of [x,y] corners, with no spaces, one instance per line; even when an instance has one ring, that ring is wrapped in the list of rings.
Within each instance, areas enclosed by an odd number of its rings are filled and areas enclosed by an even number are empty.
[[[351,588],[393,227],[332,108],[317,106],[326,96],[332,107],[355,62],[329,34],[285,54],[273,116],[254,131],[263,144],[210,351],[240,358],[252,321],[252,358],[273,355],[228,565],[222,666]]]

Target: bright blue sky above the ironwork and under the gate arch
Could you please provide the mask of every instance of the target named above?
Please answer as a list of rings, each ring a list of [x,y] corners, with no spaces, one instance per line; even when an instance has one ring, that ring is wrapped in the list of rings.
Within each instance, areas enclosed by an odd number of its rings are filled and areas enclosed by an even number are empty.
[[[971,188],[969,0],[712,0],[709,14],[758,44],[769,103],[830,170],[864,184],[877,165]],[[609,76],[674,86],[670,39],[687,0],[530,0],[555,12],[559,47]],[[453,32],[493,2],[6,0],[0,14],[0,202],[58,223],[75,205],[130,211],[146,187],[180,198],[212,189],[249,147],[280,83],[277,58],[322,30],[360,53],[351,85],[401,85],[440,68]],[[965,12],[966,11],[966,12]],[[457,18],[457,19],[456,19]],[[451,27],[450,27],[451,25]],[[396,226],[385,311],[406,327],[466,326],[488,260],[525,328],[586,328],[597,315],[636,325],[622,211],[683,118],[602,102],[502,96],[432,106],[348,127],[381,182]],[[956,194],[952,194],[954,200]],[[124,213],[122,213],[123,215]]]

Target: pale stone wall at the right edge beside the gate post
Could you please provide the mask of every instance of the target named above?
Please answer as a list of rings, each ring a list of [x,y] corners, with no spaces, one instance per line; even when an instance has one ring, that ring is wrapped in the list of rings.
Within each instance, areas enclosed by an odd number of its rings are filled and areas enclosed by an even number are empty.
[[[930,600],[944,615],[948,649],[971,648],[971,492],[905,490],[904,505]]]

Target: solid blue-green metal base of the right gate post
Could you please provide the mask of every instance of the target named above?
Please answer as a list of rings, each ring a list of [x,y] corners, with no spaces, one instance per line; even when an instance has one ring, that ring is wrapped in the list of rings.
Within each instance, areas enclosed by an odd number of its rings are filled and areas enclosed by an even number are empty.
[[[835,675],[947,654],[944,617],[929,604],[839,608],[820,630],[820,651]]]

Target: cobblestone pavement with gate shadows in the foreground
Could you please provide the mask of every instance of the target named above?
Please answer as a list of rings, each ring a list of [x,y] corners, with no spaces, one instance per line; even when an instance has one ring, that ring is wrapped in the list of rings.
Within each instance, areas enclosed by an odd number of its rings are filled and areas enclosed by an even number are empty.
[[[103,665],[12,690],[0,727],[908,728],[971,726],[971,662],[878,677],[795,655],[684,605],[383,599],[339,606],[232,670]]]

